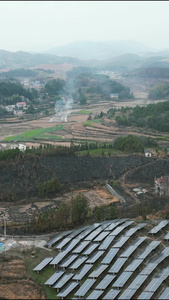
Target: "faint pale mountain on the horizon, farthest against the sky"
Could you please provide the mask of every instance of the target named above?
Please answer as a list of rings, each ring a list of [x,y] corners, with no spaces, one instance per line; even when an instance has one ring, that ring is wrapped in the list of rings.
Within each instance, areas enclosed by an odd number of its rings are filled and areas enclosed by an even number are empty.
[[[71,56],[78,59],[105,60],[127,53],[141,54],[143,52],[155,52],[156,50],[135,41],[116,42],[73,42],[65,46],[48,50],[50,54],[59,56]]]

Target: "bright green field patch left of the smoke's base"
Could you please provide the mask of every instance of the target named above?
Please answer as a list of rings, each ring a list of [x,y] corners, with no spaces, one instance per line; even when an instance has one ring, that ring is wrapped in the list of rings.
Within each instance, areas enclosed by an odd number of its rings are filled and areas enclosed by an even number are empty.
[[[47,135],[47,133],[51,133],[54,131],[59,131],[64,128],[65,125],[57,125],[54,127],[44,128],[44,129],[35,129],[26,131],[19,135],[9,136],[4,139],[4,141],[32,141],[32,140],[39,140],[39,139],[62,139],[61,136],[58,135]]]

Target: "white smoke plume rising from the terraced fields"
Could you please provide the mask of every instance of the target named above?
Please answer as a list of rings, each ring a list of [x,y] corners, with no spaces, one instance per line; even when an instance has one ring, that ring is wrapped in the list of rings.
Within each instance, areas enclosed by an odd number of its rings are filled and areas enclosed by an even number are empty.
[[[67,122],[74,103],[74,80],[71,78],[66,81],[64,90],[60,93],[60,100],[55,103],[55,115],[50,118],[49,122]]]

